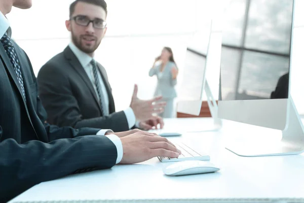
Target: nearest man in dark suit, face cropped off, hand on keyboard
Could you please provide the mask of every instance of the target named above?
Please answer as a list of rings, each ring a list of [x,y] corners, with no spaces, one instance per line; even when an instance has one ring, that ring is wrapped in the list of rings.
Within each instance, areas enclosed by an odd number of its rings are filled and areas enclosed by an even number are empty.
[[[45,123],[31,63],[11,40],[5,15],[12,6],[30,8],[31,0],[0,1],[0,202],[69,174],[178,156],[180,151],[165,138],[140,130],[113,134]]]

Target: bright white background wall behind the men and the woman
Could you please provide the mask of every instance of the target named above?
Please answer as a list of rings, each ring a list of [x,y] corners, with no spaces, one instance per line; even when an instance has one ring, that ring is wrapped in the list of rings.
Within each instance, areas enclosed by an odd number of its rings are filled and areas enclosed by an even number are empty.
[[[13,38],[29,55],[37,74],[40,67],[70,41],[64,21],[68,19],[68,7],[73,1],[32,1],[31,9],[13,9],[7,17]],[[304,1],[295,1],[291,94],[299,113],[304,114]],[[141,98],[153,96],[156,78],[147,74],[163,46],[173,48],[180,70],[177,86],[180,88],[189,39],[196,31],[204,30],[211,18],[215,18],[214,30],[220,30],[220,13],[229,0],[108,0],[107,4],[108,29],[96,58],[107,70],[117,110],[123,110],[129,106],[134,83],[139,85]],[[209,66],[217,67],[219,61],[213,62]],[[207,77],[215,98],[218,97],[218,75],[217,68],[208,69]]]

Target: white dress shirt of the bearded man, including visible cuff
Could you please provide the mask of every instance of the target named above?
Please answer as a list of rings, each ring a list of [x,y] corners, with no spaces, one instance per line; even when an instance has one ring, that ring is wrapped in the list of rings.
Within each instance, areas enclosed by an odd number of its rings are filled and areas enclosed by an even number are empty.
[[[88,54],[86,54],[85,52],[81,51],[72,42],[68,46],[72,50],[72,52],[75,54],[75,56],[78,58],[79,62],[83,66],[84,70],[86,71],[86,73],[94,87],[96,95],[99,98],[97,89],[96,89],[96,86],[94,83],[95,81],[94,81],[93,67],[92,67],[92,64],[90,63],[93,58],[91,56],[89,56]],[[97,74],[98,74],[98,79],[99,79],[99,83],[101,86],[102,95],[103,95],[103,98],[105,101],[105,105],[108,108],[109,107],[109,97],[108,97],[104,82],[102,80],[102,77],[100,75],[100,72],[98,71]],[[135,114],[134,114],[133,110],[131,109],[131,107],[124,110],[124,113],[126,115],[129,128],[132,128],[135,124],[138,124],[138,123],[136,123],[136,117],[135,117]]]

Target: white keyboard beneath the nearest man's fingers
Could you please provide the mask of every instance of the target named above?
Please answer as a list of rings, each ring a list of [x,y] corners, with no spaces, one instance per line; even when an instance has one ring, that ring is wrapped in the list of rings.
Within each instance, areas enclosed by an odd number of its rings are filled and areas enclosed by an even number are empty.
[[[210,160],[210,156],[199,151],[195,151],[183,143],[173,143],[177,149],[181,151],[181,154],[177,158],[169,158],[159,156],[158,158],[162,162],[169,161],[186,161],[186,160]]]

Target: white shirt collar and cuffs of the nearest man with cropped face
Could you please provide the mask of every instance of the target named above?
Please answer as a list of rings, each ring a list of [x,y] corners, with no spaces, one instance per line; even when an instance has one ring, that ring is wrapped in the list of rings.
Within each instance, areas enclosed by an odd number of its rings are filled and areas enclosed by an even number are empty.
[[[9,29],[9,27],[10,27],[10,23],[9,23],[8,19],[3,15],[2,12],[0,12],[0,38],[2,38],[4,36],[5,32]],[[96,133],[96,135],[104,136],[105,133],[107,133],[107,132],[113,132],[113,131],[110,129],[102,129],[102,130],[99,130]],[[116,163],[121,162],[121,160],[123,158],[123,145],[122,145],[120,138],[117,137],[115,134],[109,134],[105,137],[110,139],[113,142],[113,144],[116,146],[116,149],[117,149]]]

